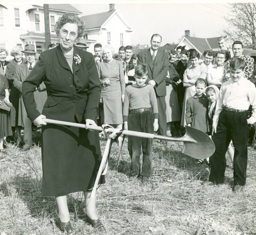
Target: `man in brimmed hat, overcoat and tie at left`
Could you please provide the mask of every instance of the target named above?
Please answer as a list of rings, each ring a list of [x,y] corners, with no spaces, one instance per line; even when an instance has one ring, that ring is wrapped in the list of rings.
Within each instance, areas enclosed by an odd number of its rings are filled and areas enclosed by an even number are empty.
[[[25,45],[24,51],[22,52],[25,54],[27,62],[16,67],[13,86],[20,91],[18,126],[24,127],[24,145],[20,151],[27,151],[32,147],[32,122],[27,117],[26,109],[22,99],[21,87],[22,82],[24,82],[24,80],[28,77],[37,60],[35,59],[35,46],[33,44]],[[34,92],[34,96],[37,103],[37,109],[42,111],[47,99],[46,87],[44,83],[37,87]]]

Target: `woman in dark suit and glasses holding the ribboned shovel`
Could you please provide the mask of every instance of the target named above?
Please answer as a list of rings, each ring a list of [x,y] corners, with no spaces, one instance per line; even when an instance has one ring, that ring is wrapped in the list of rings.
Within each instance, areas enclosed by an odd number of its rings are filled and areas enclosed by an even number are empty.
[[[84,23],[76,15],[63,14],[55,24],[59,46],[43,51],[22,84],[28,117],[42,128],[44,196],[56,197],[61,231],[72,231],[67,194],[83,191],[86,220],[102,227],[96,214],[96,198],[91,197],[101,161],[98,133],[82,128],[47,124],[44,118],[96,126],[100,80],[93,55],[74,46],[84,33]],[[37,109],[34,90],[45,82],[48,98],[42,114]],[[104,182],[104,177],[100,183]]]

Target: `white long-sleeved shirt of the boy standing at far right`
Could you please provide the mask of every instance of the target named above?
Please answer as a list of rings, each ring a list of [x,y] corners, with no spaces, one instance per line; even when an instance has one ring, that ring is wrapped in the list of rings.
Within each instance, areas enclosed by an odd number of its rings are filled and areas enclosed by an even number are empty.
[[[252,82],[242,77],[239,81],[230,80],[221,85],[221,90],[216,104],[213,126],[217,126],[219,114],[223,107],[247,110],[252,105],[252,116],[247,119],[249,124],[256,122],[256,88]]]

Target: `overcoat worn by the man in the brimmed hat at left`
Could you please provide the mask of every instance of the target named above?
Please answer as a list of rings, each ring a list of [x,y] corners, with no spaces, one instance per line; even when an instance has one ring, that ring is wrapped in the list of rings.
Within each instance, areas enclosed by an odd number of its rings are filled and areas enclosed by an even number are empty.
[[[35,60],[36,64],[37,60]],[[25,126],[25,120],[27,118],[27,112],[24,106],[23,98],[22,98],[22,83],[29,75],[28,64],[27,62],[24,64],[20,64],[15,69],[15,76],[13,78],[13,87],[20,91],[19,93],[19,113],[18,113],[18,126]],[[39,87],[39,89],[38,89]],[[42,112],[43,106],[47,99],[47,92],[46,87],[43,82],[41,82],[38,86],[34,89],[34,97],[37,108],[40,112]]]

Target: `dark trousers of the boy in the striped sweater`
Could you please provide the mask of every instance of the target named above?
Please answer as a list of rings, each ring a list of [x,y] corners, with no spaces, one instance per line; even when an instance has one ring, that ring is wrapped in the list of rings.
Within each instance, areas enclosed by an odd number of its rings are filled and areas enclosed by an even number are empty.
[[[128,130],[154,133],[153,114],[151,108],[131,110],[128,118]],[[143,153],[142,171],[140,173],[141,146]],[[141,137],[128,137],[128,151],[131,157],[130,173],[132,176],[141,175],[150,177],[152,173],[152,139]]]

